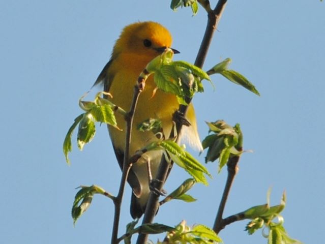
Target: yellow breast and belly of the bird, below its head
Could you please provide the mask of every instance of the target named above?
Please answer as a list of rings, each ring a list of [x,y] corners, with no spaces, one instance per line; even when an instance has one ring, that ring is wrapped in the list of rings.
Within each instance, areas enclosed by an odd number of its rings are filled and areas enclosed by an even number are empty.
[[[134,92],[134,85],[137,78],[153,57],[146,55],[137,55],[135,53],[120,54],[110,69],[113,74],[113,81],[110,86],[110,94],[113,96],[111,101],[129,111]],[[150,76],[145,83],[143,92],[139,96],[138,104],[135,110],[132,143],[130,146],[130,155],[136,150],[145,146],[153,140],[157,140],[152,132],[140,132],[137,125],[148,118],[159,118],[162,120],[163,131],[166,137],[169,136],[172,127],[172,114],[179,108],[176,97],[172,94],[157,90],[153,96],[156,85],[153,76]],[[114,146],[123,149],[125,146],[125,119],[121,114],[116,114],[117,126],[123,131],[109,128],[109,132]]]

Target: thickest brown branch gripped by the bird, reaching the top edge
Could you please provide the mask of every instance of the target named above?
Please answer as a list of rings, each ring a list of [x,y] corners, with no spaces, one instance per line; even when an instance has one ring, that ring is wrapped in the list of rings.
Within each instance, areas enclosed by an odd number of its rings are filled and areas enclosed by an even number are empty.
[[[200,1],[203,3],[203,1]],[[194,65],[202,68],[203,67],[203,63],[206,57],[206,54],[208,53],[208,49],[213,37],[214,32],[217,29],[219,20],[221,18],[221,15],[223,13],[223,10],[225,8],[225,5],[227,3],[227,0],[219,0],[219,2],[216,5],[216,8],[214,9],[213,12],[208,13],[208,23],[206,24],[206,28],[205,28],[205,33],[203,36],[203,40],[201,42],[201,46],[200,49],[198,51],[197,57],[195,59],[195,63]],[[200,3],[201,4],[201,3]],[[206,9],[206,8],[204,8]],[[191,99],[186,99],[187,103],[191,102]],[[179,111],[181,113],[184,114],[184,116],[186,115],[186,111],[188,109],[188,106],[184,106],[184,105],[180,105]],[[181,123],[176,123],[176,132],[177,132],[177,140],[179,141],[179,135],[182,129],[182,124]],[[169,138],[174,138],[174,133],[173,130],[171,130],[170,136]],[[156,176],[156,186],[154,186],[156,189],[158,189],[159,191],[162,190],[162,187],[164,185],[164,182],[166,180],[166,177],[168,175],[169,169],[170,169],[171,165],[170,163],[168,163],[164,157],[162,157],[159,168],[158,168],[158,172],[157,172],[157,176]],[[147,202],[146,208],[145,208],[145,212],[144,212],[144,217],[142,220],[142,224],[146,224],[146,223],[152,223],[156,212],[158,210],[159,207],[159,196],[151,193],[149,200]],[[144,244],[147,242],[147,238],[148,235],[147,234],[139,234],[138,239],[137,239],[137,244]]]

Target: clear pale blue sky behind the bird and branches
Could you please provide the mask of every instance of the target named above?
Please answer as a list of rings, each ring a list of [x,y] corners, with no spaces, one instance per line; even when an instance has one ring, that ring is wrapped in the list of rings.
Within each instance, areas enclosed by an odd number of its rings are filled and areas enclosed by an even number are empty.
[[[211,1],[215,2],[215,1]],[[107,243],[113,205],[95,196],[75,227],[70,210],[79,185],[100,185],[115,194],[120,169],[105,126],[78,151],[75,136],[71,166],[62,153],[64,136],[80,114],[77,101],[94,83],[109,59],[121,29],[138,20],[154,20],[173,35],[176,59],[194,62],[206,15],[199,9],[169,9],[169,1],[1,1],[0,150],[3,243]],[[214,4],[212,4],[214,5]],[[294,238],[319,243],[325,218],[323,138],[325,136],[325,14],[319,1],[229,1],[204,69],[231,57],[231,69],[251,80],[261,97],[214,76],[213,90],[194,98],[201,138],[204,121],[240,123],[245,149],[225,217],[271,202],[287,192],[285,227]],[[195,154],[196,155],[196,154]],[[203,156],[199,157],[203,162]],[[226,171],[207,165],[210,186],[197,185],[195,203],[172,201],[161,207],[157,222],[212,226]],[[187,174],[176,167],[165,186]],[[126,190],[121,229],[129,215]],[[267,243],[258,231],[244,232],[247,221],[220,233],[225,243]],[[120,232],[122,234],[122,232]],[[156,237],[152,237],[156,240]]]

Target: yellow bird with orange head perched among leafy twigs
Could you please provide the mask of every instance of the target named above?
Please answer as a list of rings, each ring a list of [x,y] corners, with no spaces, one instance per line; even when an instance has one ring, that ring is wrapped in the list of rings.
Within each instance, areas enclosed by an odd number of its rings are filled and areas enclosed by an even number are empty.
[[[126,26],[119,39],[116,41],[111,58],[98,76],[95,85],[104,83],[105,92],[113,98],[110,100],[117,106],[128,111],[130,109],[133,87],[136,80],[146,65],[156,56],[160,55],[167,47],[171,47],[172,38],[169,31],[156,22],[136,22]],[[173,49],[174,50],[174,49]],[[175,53],[178,51],[174,50]],[[132,128],[132,142],[130,156],[150,142],[158,140],[152,132],[140,132],[137,125],[148,118],[159,118],[162,121],[164,135],[168,138],[172,128],[172,115],[178,110],[179,103],[172,94],[157,90],[152,76],[146,80],[145,88],[140,94],[135,110]],[[153,96],[153,94],[155,94]],[[182,135],[192,147],[202,150],[196,128],[194,108],[190,104],[187,115],[190,127],[183,127]],[[121,114],[116,114],[117,126],[123,131],[108,127],[113,148],[119,165],[123,167],[125,146],[125,119]],[[150,194],[150,179],[147,163],[151,165],[153,178],[162,157],[161,151],[149,151],[133,164],[128,183],[133,194],[131,198],[131,216],[140,218],[145,210],[145,205]]]

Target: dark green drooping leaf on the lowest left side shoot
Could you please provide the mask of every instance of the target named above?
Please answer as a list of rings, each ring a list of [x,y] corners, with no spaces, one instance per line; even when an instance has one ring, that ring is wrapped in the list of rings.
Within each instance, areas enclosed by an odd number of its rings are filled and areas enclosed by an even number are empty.
[[[92,187],[83,187],[77,192],[71,210],[73,224],[75,224],[79,217],[90,207],[93,197],[94,191]],[[80,201],[81,203],[79,205]]]

